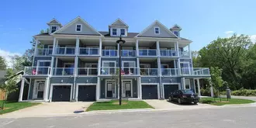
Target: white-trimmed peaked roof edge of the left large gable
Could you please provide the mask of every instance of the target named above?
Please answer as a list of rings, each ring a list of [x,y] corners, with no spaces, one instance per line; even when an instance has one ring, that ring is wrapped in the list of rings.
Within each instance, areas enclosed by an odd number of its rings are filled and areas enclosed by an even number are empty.
[[[55,33],[59,33],[61,32],[62,30],[66,29],[68,26],[71,26],[74,22],[78,21],[78,20],[81,20],[81,22],[85,23],[86,26],[88,26],[90,29],[92,29],[93,31],[95,31],[95,33],[98,33],[99,36],[102,36],[101,33],[99,33],[96,29],[94,29],[91,25],[88,24],[88,22],[86,22],[84,19],[81,19],[80,16],[78,16],[77,18],[71,20],[71,22],[68,22],[65,26],[61,27],[61,29],[58,29],[57,31],[55,31],[54,33],[51,33],[52,34],[55,34]]]

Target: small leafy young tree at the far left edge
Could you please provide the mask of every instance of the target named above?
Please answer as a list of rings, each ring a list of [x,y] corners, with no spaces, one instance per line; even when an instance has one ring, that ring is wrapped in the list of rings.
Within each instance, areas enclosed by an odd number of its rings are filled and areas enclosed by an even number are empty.
[[[0,89],[5,94],[5,97],[2,102],[2,109],[5,109],[5,102],[8,98],[8,95],[12,92],[16,92],[18,90],[17,84],[17,77],[14,71],[9,68],[5,75],[5,81],[1,82]]]

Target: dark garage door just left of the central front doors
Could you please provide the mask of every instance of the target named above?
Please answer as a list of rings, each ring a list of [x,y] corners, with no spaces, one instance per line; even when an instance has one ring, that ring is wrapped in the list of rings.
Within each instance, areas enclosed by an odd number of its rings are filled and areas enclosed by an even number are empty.
[[[95,101],[96,86],[95,85],[79,85],[78,101]]]

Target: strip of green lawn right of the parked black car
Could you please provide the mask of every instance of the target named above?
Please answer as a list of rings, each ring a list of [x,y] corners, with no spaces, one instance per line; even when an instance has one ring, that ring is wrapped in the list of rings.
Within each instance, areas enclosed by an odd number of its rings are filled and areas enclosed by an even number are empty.
[[[247,104],[247,103],[254,102],[249,99],[229,99],[229,101],[227,101],[227,99],[222,98],[221,99],[222,102],[220,102],[219,98],[216,98],[215,100],[216,100],[216,102],[214,102],[213,98],[201,98],[200,102],[210,104],[210,105],[215,105],[215,106],[232,105],[232,104]]]

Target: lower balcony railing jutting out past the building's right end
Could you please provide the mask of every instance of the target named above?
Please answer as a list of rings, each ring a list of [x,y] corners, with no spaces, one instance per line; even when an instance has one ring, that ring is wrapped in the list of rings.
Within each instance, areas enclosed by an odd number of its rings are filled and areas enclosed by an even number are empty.
[[[183,67],[181,75],[209,76],[208,67]]]

